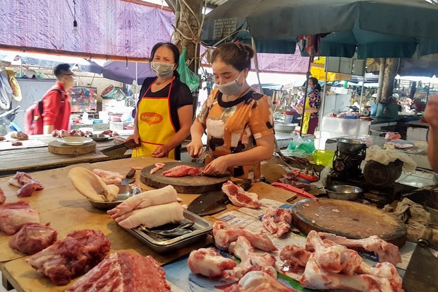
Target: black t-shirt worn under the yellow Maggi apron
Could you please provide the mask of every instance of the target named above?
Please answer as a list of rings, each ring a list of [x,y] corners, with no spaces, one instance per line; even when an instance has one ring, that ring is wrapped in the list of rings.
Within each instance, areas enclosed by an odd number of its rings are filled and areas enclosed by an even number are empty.
[[[140,89],[140,98],[137,103],[137,109],[140,103],[140,100],[145,95],[146,90],[152,84],[152,82],[156,79],[156,77],[146,78],[142,84],[142,88]],[[169,95],[170,84],[166,85],[161,90],[157,92],[149,91],[146,96],[148,97],[167,97]],[[178,108],[183,106],[193,105],[193,97],[191,95],[190,89],[186,84],[181,82],[179,79],[175,78],[172,84],[172,90],[170,92],[170,115],[172,119],[172,123],[175,126],[175,129],[179,131],[181,129],[180,119],[178,118]]]

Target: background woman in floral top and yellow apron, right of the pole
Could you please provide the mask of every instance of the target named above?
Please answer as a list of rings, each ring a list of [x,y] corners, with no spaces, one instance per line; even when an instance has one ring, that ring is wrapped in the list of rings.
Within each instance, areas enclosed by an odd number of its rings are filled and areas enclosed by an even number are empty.
[[[297,106],[297,111],[302,115],[301,127],[303,134],[315,134],[315,129],[318,126],[319,115],[318,111],[321,108],[321,86],[318,84],[318,79],[310,77],[307,81],[307,98],[304,114],[302,106]]]

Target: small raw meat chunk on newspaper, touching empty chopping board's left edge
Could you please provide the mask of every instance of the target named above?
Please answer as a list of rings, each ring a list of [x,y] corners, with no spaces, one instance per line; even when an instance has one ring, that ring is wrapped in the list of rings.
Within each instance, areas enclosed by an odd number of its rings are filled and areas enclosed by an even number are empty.
[[[280,237],[291,229],[292,212],[283,208],[268,209],[261,221],[266,230]]]

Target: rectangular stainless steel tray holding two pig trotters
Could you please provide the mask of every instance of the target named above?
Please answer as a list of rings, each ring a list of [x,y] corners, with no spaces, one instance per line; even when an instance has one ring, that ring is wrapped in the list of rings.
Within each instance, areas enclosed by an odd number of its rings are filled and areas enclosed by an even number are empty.
[[[160,235],[148,234],[139,227],[126,229],[129,233],[137,237],[141,242],[150,247],[157,253],[166,253],[172,250],[183,248],[193,242],[207,237],[208,233],[212,231],[213,225],[210,221],[197,216],[187,210],[184,210],[184,219],[181,223],[193,222],[193,226],[190,227],[193,231],[175,238],[167,238]],[[166,230],[172,229],[178,224],[166,224],[158,226],[152,229]]]

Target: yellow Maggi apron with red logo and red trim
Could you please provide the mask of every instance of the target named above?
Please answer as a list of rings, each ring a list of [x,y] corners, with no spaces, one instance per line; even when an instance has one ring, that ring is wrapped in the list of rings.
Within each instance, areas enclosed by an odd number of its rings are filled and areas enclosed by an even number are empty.
[[[154,82],[155,80],[152,84]],[[147,88],[138,107],[141,146],[132,151],[132,157],[151,156],[156,147],[166,144],[177,133],[170,114],[170,92],[173,79],[167,97],[146,96],[152,84]],[[175,159],[175,149],[169,151],[167,157]]]

